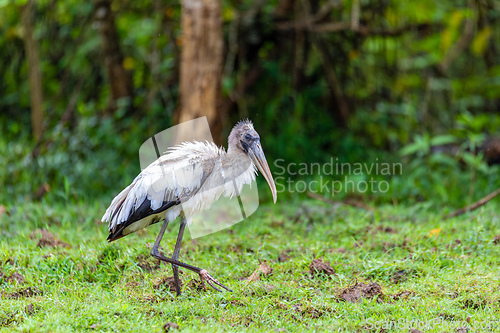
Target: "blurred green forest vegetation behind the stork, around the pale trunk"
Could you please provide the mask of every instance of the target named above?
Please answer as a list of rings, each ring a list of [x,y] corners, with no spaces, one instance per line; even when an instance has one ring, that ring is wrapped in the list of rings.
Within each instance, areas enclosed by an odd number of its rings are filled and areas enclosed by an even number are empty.
[[[107,202],[130,183],[142,142],[183,119],[193,1],[0,0],[2,202]],[[213,3],[218,131],[252,119],[271,169],[403,163],[375,176],[387,193],[340,195],[377,204],[461,206],[500,186],[499,1]]]

